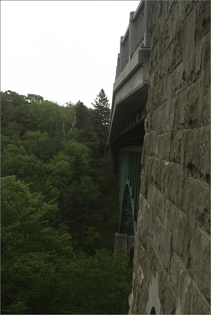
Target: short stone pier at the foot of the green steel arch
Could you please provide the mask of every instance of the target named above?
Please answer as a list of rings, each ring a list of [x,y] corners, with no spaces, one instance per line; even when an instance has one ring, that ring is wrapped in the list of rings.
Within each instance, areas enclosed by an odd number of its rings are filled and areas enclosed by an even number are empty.
[[[128,252],[127,260],[130,261],[130,251],[134,246],[134,236],[127,236],[126,233],[115,233],[114,253],[117,254],[120,249]]]

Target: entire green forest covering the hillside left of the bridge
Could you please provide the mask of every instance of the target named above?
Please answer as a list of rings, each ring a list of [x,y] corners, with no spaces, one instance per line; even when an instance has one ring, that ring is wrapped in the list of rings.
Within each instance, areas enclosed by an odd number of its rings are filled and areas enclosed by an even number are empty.
[[[1,314],[128,314],[110,108],[1,92]]]

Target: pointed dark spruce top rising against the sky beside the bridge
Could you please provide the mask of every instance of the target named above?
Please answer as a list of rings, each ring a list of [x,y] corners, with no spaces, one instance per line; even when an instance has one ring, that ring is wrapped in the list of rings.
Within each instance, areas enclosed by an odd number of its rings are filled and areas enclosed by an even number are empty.
[[[109,120],[110,120],[110,104],[108,101],[108,97],[105,95],[105,92],[103,89],[101,89],[100,93],[96,96],[94,100],[94,104],[91,103],[96,111],[96,113],[99,115],[102,124],[104,126],[109,126]]]

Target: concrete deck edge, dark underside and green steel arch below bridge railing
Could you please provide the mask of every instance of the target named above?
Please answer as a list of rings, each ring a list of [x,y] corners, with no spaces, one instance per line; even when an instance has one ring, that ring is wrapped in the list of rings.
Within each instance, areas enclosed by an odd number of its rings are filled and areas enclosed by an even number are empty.
[[[119,73],[113,89],[109,145],[113,152],[114,172],[119,173],[119,233],[130,236],[136,234],[139,208],[150,53],[150,48],[139,47]]]

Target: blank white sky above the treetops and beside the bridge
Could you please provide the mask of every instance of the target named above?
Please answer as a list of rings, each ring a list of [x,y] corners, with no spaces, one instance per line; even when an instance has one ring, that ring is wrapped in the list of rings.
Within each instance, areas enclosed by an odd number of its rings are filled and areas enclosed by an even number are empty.
[[[1,0],[0,90],[112,102],[120,37],[139,0]]]

